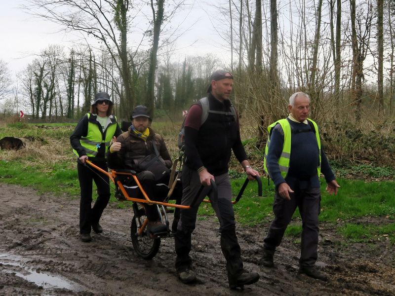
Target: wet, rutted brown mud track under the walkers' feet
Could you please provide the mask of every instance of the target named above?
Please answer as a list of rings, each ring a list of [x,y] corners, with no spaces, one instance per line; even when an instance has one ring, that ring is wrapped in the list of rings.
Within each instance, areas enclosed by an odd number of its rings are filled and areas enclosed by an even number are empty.
[[[130,242],[131,210],[110,205],[93,241],[79,241],[79,200],[38,194],[0,183],[0,295],[395,295],[394,246],[388,241],[344,244],[332,224],[320,228],[317,265],[322,282],[299,275],[299,243],[284,238],[275,267],[261,268],[269,222],[237,227],[245,268],[260,280],[230,290],[215,217],[197,221],[194,266],[199,282],[184,285],[174,269],[174,240],[162,239],[152,260],[137,256]]]

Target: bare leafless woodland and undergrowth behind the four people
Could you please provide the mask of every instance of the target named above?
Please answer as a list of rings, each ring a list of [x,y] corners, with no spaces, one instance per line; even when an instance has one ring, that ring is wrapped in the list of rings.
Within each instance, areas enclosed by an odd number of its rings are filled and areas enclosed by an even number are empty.
[[[394,165],[394,1],[207,3],[218,44],[227,44],[225,63],[213,54],[174,53],[188,28],[172,26],[172,18],[188,5],[182,0],[26,1],[20,9],[94,42],[43,48],[16,79],[0,61],[1,118],[17,120],[14,114],[23,109],[28,122],[77,121],[94,94],[107,91],[119,118],[128,119],[134,106],[144,104],[154,120],[171,121],[178,129],[181,111],[205,96],[211,72],[224,68],[234,74],[232,101],[256,148],[266,142],[266,127],[286,115],[289,96],[304,91],[332,158]]]

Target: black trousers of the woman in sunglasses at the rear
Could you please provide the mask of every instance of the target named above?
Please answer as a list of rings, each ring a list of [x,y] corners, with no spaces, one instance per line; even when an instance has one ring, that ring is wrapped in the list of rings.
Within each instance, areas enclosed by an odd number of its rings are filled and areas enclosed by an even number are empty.
[[[107,171],[107,164],[95,163]],[[107,175],[92,167],[77,164],[79,187],[81,188],[81,199],[79,202],[79,232],[90,233],[91,224],[97,223],[110,200],[110,185]],[[92,208],[92,181],[97,186],[98,197]]]

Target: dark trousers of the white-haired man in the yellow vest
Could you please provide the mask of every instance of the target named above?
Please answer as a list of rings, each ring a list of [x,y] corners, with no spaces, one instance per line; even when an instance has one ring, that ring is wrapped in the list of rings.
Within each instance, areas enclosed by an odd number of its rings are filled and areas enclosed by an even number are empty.
[[[320,189],[293,189],[291,200],[279,196],[276,190],[273,212],[275,219],[269,227],[268,235],[264,238],[264,247],[275,250],[281,243],[285,229],[292,219],[292,215],[299,208],[302,218],[302,241],[299,263],[301,266],[313,266],[317,260],[318,246],[318,215],[320,211]]]

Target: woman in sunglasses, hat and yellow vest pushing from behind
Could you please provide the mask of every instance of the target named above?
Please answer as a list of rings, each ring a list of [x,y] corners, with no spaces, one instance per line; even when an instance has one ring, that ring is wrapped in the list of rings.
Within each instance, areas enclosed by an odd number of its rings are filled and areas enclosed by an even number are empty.
[[[85,164],[89,159],[95,165],[107,171],[106,152],[113,137],[118,137],[121,130],[113,113],[113,102],[106,92],[99,92],[90,108],[77,124],[70,143],[77,155],[77,170],[81,199],[79,203],[80,240],[90,242],[91,229],[96,233],[103,232],[99,224],[100,217],[110,199],[109,178]],[[98,197],[92,203],[92,180],[97,186]]]

